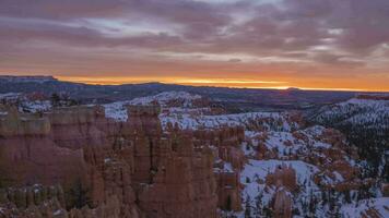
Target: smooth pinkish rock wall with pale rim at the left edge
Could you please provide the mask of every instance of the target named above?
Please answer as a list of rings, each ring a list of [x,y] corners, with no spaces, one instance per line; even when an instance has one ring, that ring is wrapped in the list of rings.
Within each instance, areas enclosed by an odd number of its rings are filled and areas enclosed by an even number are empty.
[[[9,113],[0,123],[4,185],[56,184],[82,177],[86,169],[83,152],[58,147],[47,117]]]

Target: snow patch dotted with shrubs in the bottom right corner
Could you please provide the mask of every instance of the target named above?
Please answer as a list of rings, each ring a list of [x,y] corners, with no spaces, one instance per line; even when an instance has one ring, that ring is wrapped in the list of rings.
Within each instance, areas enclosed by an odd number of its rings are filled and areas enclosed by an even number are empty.
[[[363,199],[357,203],[347,204],[341,208],[341,213],[344,218],[373,218],[373,216],[368,216],[368,209],[376,210],[381,218],[389,217],[389,197]]]

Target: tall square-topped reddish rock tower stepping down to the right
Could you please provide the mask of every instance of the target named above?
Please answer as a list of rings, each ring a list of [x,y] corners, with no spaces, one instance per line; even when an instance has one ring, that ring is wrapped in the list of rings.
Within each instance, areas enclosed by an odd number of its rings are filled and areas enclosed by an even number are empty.
[[[216,217],[216,183],[210,149],[194,149],[192,134],[162,134],[157,106],[132,106],[129,123],[138,134],[133,181],[148,217]]]

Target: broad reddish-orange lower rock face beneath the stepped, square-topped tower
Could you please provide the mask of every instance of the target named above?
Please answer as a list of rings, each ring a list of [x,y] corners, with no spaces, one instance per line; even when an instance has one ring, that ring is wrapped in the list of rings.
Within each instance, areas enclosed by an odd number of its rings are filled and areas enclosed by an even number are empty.
[[[212,160],[173,153],[139,189],[140,207],[150,217],[216,217]]]

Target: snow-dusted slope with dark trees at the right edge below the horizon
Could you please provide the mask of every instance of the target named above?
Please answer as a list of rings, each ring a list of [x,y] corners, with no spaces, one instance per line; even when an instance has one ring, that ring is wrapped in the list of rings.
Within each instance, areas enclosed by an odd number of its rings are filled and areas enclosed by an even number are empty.
[[[362,158],[372,166],[369,174],[389,181],[389,97],[363,96],[323,107],[310,118],[347,136]]]

